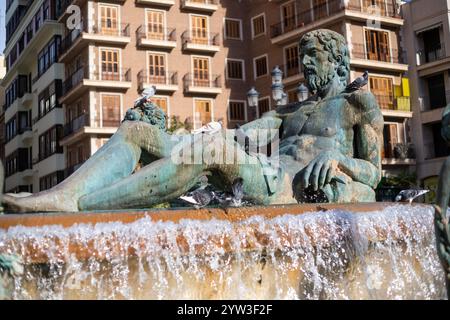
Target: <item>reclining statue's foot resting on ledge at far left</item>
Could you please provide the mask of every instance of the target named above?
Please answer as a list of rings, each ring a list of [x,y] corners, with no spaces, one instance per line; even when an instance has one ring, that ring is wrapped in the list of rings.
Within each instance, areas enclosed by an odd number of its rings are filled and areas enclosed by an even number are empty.
[[[74,212],[78,204],[72,197],[59,194],[42,193],[36,195],[5,194],[3,196],[5,212]]]

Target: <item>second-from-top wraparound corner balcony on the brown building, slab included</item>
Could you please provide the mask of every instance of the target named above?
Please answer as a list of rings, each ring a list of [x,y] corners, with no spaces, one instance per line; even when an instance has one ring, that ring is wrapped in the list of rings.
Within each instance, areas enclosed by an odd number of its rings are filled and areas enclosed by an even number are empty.
[[[82,67],[64,81],[63,95],[59,103],[67,103],[94,88],[128,90],[131,88],[131,70],[88,71]]]

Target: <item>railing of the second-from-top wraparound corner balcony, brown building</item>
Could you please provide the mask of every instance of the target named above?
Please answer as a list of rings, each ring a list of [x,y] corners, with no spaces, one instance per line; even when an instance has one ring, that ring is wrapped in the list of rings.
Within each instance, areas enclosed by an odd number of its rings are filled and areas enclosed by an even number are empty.
[[[131,81],[131,69],[130,68],[118,68],[111,71],[90,71],[79,68],[72,73],[69,78],[64,81],[63,84],[63,96],[69,93],[74,87],[80,84],[84,79],[86,80],[102,80],[102,81]]]

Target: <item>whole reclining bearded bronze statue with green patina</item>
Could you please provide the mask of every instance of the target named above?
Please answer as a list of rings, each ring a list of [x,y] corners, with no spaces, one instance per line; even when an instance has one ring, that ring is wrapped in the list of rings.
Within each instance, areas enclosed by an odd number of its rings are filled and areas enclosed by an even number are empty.
[[[346,91],[350,59],[345,39],[330,30],[312,31],[300,41],[300,59],[311,98],[241,127],[251,139],[256,139],[254,129],[279,134],[279,148],[272,154],[280,167],[273,173],[267,168],[274,159],[245,152],[237,142],[224,140],[223,132],[214,137],[215,143],[225,154],[234,150],[245,161],[177,164],[171,155],[178,152],[183,136],[142,121],[124,121],[61,184],[28,197],[5,195],[4,202],[16,211],[144,208],[179,197],[203,175],[220,188],[242,178],[245,198],[257,204],[374,201],[373,189],[381,178],[383,116],[370,92]],[[267,137],[265,144],[274,138]],[[208,139],[193,141],[203,144],[200,150],[210,146]],[[143,159],[146,165],[134,172]]]

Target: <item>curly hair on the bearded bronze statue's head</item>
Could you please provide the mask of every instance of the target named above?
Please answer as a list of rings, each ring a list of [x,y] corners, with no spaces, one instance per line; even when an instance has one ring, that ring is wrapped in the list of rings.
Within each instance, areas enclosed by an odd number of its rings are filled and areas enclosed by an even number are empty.
[[[300,51],[312,38],[316,38],[324,46],[325,50],[331,52],[330,62],[339,62],[337,73],[342,83],[347,84],[350,76],[350,54],[345,38],[332,30],[318,29],[306,33],[300,39]],[[332,60],[333,59],[333,60]]]

